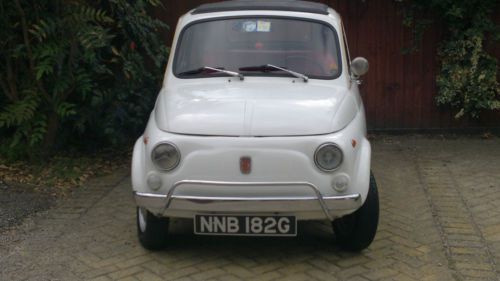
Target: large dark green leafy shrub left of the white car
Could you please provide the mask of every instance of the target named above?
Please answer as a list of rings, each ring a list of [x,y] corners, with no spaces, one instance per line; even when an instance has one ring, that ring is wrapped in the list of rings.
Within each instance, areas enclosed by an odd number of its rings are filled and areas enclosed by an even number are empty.
[[[159,89],[168,28],[159,0],[0,3],[0,153],[128,141]],[[8,148],[5,147],[8,144]]]

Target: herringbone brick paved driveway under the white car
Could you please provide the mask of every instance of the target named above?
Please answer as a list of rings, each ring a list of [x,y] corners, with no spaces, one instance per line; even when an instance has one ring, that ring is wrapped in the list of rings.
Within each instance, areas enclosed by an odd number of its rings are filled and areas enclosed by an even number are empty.
[[[335,246],[326,223],[229,239],[184,220],[148,252],[122,171],[0,232],[0,280],[500,280],[500,140],[379,137],[373,151],[381,221],[361,254]]]

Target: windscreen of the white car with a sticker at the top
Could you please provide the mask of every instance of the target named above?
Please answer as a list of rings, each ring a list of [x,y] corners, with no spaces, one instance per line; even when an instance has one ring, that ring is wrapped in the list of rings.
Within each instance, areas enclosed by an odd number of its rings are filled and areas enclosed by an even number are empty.
[[[181,32],[174,60],[179,78],[224,75],[203,67],[245,76],[288,76],[275,65],[310,78],[340,75],[338,36],[333,27],[304,19],[231,18],[202,21]]]

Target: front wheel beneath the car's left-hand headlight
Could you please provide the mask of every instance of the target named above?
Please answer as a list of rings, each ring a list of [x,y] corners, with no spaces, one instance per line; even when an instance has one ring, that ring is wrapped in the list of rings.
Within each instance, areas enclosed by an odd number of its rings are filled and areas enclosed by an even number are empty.
[[[167,245],[168,218],[159,218],[145,208],[137,207],[137,234],[148,250],[160,250]]]

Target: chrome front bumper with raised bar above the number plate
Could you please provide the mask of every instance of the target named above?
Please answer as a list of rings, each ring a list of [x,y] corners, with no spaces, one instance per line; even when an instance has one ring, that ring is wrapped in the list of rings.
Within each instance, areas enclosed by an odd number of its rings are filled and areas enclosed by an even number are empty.
[[[174,192],[183,185],[207,186],[304,186],[315,196],[301,197],[220,197],[185,196]],[[137,206],[147,208],[156,215],[192,217],[195,213],[322,213],[323,218],[333,221],[336,217],[352,212],[362,205],[360,194],[324,197],[318,187],[308,182],[222,182],[183,180],[172,186],[168,194],[134,191]],[[312,215],[314,217],[314,215]]]

